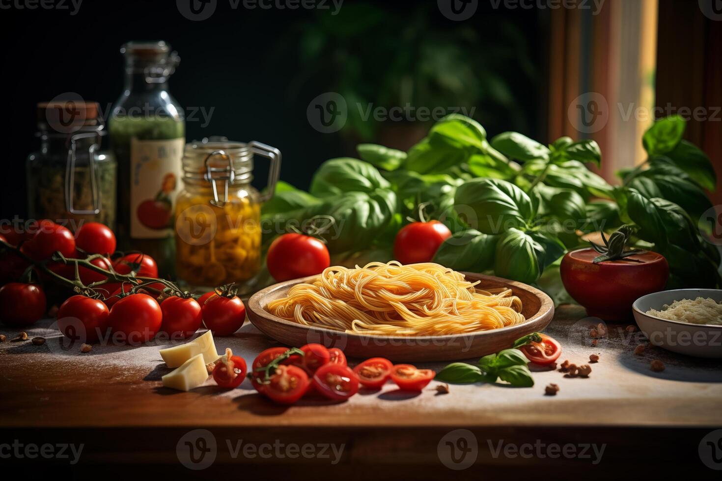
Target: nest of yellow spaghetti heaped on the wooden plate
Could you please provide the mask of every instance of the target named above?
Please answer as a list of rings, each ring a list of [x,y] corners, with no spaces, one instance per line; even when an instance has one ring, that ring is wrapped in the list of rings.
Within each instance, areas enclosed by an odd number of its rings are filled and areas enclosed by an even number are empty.
[[[302,325],[367,335],[463,334],[524,322],[510,289],[477,291],[477,283],[432,262],[335,266],[267,309]]]

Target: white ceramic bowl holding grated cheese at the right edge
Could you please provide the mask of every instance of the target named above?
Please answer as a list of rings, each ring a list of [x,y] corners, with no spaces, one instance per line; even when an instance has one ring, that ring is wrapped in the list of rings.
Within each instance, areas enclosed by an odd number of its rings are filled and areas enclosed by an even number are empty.
[[[646,312],[649,309],[661,310],[665,304],[682,299],[704,297],[722,301],[719,289],[675,289],[642,296],[632,304],[632,312],[637,324],[649,342],[675,353],[697,358],[722,358],[722,326],[690,324],[688,322],[668,321],[653,317]]]

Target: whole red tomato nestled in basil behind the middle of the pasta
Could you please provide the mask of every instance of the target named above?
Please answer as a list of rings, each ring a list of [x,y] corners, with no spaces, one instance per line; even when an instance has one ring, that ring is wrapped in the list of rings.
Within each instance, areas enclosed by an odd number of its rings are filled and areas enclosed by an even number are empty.
[[[431,262],[451,231],[439,221],[414,222],[401,228],[393,241],[393,256],[401,264]]]

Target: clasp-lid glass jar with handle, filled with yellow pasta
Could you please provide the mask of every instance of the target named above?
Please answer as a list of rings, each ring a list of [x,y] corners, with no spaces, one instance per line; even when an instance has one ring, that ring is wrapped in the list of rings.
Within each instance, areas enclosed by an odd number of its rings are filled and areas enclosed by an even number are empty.
[[[271,162],[268,187],[253,186],[253,155]],[[204,138],[186,145],[175,206],[175,273],[193,289],[248,283],[261,270],[261,203],[279,178],[281,152],[259,142]]]

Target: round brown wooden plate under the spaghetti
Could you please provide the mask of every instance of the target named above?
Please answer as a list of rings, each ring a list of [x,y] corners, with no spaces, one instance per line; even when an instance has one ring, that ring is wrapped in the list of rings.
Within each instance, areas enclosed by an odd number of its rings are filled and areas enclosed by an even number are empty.
[[[341,348],[347,357],[383,357],[395,362],[452,361],[480,358],[510,348],[519,337],[547,327],[554,317],[554,303],[547,294],[521,282],[474,273],[464,273],[469,281],[481,281],[480,289],[511,288],[521,299],[526,322],[502,329],[457,335],[379,336],[337,332],[321,327],[307,327],[290,322],[266,311],[270,301],[286,296],[298,283],[312,282],[316,276],[278,283],[258,291],[248,299],[248,317],[258,330],[285,345],[300,347],[321,343]]]

